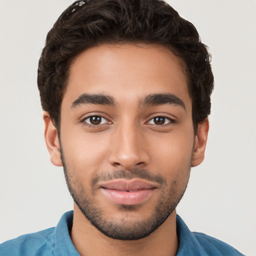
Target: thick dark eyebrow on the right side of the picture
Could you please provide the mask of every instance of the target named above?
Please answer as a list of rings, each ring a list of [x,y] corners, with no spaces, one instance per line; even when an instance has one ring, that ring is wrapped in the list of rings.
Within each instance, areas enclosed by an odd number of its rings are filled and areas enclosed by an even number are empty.
[[[186,110],[184,102],[179,97],[171,93],[149,94],[140,101],[140,107],[164,104],[181,106]]]

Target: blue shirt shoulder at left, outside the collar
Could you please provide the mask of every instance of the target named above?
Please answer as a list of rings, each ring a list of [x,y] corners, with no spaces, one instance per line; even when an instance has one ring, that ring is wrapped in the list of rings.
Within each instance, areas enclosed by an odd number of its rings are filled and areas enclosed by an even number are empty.
[[[23,255],[53,255],[54,227],[30,234],[21,235],[15,239],[0,244],[1,256]]]

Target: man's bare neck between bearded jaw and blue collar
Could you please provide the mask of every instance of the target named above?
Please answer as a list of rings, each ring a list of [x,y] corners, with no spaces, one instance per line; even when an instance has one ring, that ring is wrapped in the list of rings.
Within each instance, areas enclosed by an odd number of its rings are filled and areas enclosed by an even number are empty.
[[[74,204],[70,238],[81,256],[174,256],[178,249],[175,210],[150,235],[138,240],[116,240],[98,231]]]

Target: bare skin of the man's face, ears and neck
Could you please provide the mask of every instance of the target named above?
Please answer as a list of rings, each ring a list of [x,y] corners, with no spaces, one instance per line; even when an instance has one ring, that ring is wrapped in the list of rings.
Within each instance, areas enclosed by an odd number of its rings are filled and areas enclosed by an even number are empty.
[[[204,158],[208,120],[198,124],[194,134],[191,99],[182,61],[159,45],[99,45],[80,53],[70,66],[67,89],[61,104],[60,141],[70,184],[80,189],[101,210],[108,221],[125,219],[131,224],[147,220],[159,200],[169,196],[178,202],[190,167]],[[115,105],[78,104],[83,93],[109,95]],[[169,93],[178,104],[143,105],[149,94]],[[90,125],[88,116],[102,116]],[[164,116],[163,124],[154,117]],[[87,119],[86,119],[87,118]],[[44,112],[45,141],[51,162],[62,166],[57,130]],[[99,186],[91,188],[97,174],[146,169],[164,177],[149,198],[125,210],[109,200]],[[78,188],[76,188],[78,187]],[[175,255],[178,249],[175,209],[148,236],[117,240],[98,231],[74,203],[70,237],[80,255]],[[100,245],[100,246],[98,246]]]

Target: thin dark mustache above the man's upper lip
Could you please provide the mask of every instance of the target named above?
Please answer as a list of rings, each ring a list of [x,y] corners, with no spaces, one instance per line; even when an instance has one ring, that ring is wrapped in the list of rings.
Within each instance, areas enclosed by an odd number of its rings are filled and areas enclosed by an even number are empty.
[[[112,172],[103,172],[100,174],[96,174],[91,180],[91,186],[94,187],[99,181],[108,181],[108,180],[118,179],[118,178],[124,178],[124,179],[141,178],[141,179],[147,179],[149,181],[154,181],[159,184],[166,184],[166,179],[163,177],[163,175],[159,173],[154,174],[142,168],[141,169],[134,168],[131,170],[119,169],[119,170],[114,170]]]

